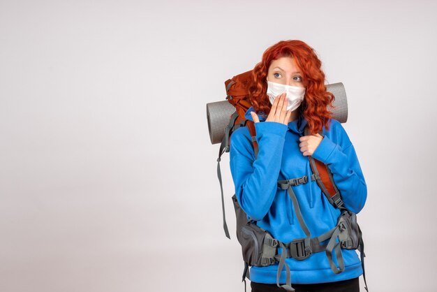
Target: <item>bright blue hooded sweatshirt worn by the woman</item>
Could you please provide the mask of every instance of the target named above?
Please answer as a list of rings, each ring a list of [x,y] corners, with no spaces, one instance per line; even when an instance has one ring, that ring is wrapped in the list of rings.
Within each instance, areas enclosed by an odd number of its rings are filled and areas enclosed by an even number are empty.
[[[249,108],[246,119],[253,121]],[[288,180],[307,175],[312,170],[309,158],[299,149],[299,138],[304,136],[308,123],[302,113],[298,119],[286,124],[264,122],[259,115],[255,123],[258,157],[255,159],[249,129],[237,129],[230,138],[230,170],[235,184],[235,194],[242,210],[258,226],[268,231],[281,242],[305,238],[286,190],[277,187],[278,180]],[[346,131],[336,119],[330,120],[329,131],[323,127],[323,140],[313,153],[313,158],[327,164],[339,189],[344,206],[355,213],[364,207],[367,187],[355,149]],[[332,206],[317,182],[292,187],[299,203],[302,217],[311,233],[311,238],[326,233],[336,226],[340,210]],[[324,242],[325,243],[325,242]],[[334,274],[324,251],[311,254],[304,260],[286,258],[290,266],[293,284],[316,284],[353,279],[362,275],[362,266],[357,251],[341,249],[345,269]],[[338,267],[336,257],[334,263]],[[276,283],[278,263],[267,267],[251,267],[251,281],[266,284]],[[279,282],[286,283],[285,267]]]

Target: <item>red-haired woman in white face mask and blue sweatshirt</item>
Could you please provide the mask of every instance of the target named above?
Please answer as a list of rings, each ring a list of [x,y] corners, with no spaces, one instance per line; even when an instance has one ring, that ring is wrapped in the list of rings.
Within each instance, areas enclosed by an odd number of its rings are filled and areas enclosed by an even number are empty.
[[[268,48],[253,69],[249,98],[253,105],[246,118],[255,122],[258,156],[247,127],[232,133],[230,170],[242,210],[257,225],[281,242],[304,238],[295,206],[278,180],[307,175],[309,157],[325,163],[332,172],[344,206],[355,213],[366,202],[366,182],[355,149],[341,124],[332,119],[327,105],[325,74],[316,52],[302,41],[281,41]],[[308,126],[311,135],[304,136]],[[323,136],[318,133],[323,130]],[[336,226],[340,210],[331,205],[315,181],[292,187],[311,236]],[[362,265],[355,249],[341,249],[345,268],[334,273],[325,252],[304,260],[286,258],[292,288],[296,291],[360,291]],[[250,270],[253,292],[284,291],[276,285],[278,263]],[[279,275],[278,275],[279,276]],[[279,277],[286,283],[286,269]]]

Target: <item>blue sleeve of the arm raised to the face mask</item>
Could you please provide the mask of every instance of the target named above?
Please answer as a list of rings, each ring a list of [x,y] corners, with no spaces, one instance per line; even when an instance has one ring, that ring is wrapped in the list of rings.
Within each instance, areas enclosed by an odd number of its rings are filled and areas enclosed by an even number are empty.
[[[237,129],[230,138],[230,171],[235,196],[244,212],[259,221],[276,195],[287,126],[279,122],[255,123],[258,157],[255,160],[249,129]]]

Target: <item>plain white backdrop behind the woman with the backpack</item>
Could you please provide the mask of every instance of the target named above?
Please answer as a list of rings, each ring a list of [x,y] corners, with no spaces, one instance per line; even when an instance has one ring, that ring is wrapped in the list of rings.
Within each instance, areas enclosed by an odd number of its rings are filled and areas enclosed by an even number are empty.
[[[232,240],[205,105],[283,39],[346,87],[370,291],[437,291],[436,13],[423,0],[0,0],[0,291],[243,291],[229,156]]]

